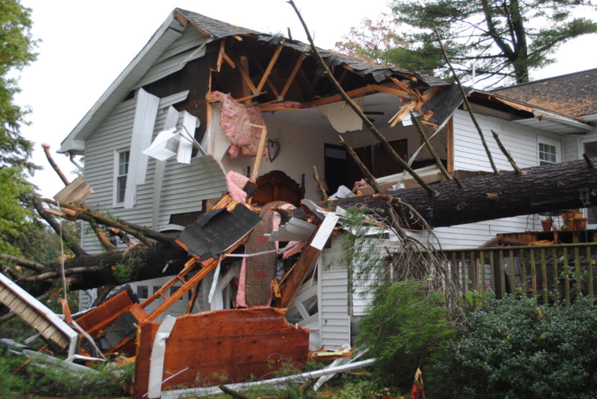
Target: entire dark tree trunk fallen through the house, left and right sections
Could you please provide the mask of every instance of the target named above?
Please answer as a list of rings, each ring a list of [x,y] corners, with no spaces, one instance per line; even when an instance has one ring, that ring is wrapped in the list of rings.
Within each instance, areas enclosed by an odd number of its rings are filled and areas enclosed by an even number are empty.
[[[500,172],[463,179],[462,189],[454,181],[436,183],[433,188],[439,194],[435,197],[430,197],[423,188],[402,189],[380,195],[331,200],[325,202],[324,207],[335,209],[336,205],[343,208],[366,205],[383,213],[388,195],[391,195],[411,204],[422,215],[428,214],[427,209],[432,208],[432,225],[440,227],[580,208],[582,188],[589,190],[590,201],[597,204],[597,169],[589,167],[584,160],[532,167],[523,172],[522,175]],[[293,214],[303,220],[309,217],[301,208]],[[408,211],[405,210],[404,214]],[[87,270],[69,274],[68,278],[72,279],[70,289],[89,289],[174,275],[188,259],[189,255],[178,245],[161,244],[134,248],[130,253],[106,251],[98,255],[82,255],[68,260],[65,267]],[[162,273],[167,263],[169,266]],[[55,272],[60,270],[59,267],[59,263],[50,264],[41,273]]]

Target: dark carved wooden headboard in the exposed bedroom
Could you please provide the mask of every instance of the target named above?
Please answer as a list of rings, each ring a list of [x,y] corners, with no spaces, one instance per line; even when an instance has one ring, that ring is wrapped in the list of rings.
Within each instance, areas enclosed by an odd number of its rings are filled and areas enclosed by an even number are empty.
[[[262,174],[257,177],[255,184],[257,193],[251,199],[254,204],[265,205],[272,201],[286,201],[298,207],[300,200],[304,198],[304,173],[301,175],[300,185],[281,170]]]

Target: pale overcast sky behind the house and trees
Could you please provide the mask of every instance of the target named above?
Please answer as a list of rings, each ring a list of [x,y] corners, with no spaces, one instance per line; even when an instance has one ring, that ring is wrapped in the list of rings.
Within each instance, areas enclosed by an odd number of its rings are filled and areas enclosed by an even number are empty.
[[[42,142],[52,151],[75,127],[110,83],[143,48],[153,32],[174,8],[180,7],[260,32],[287,32],[306,41],[296,14],[284,0],[21,0],[32,8],[33,29],[39,43],[39,57],[21,72],[17,96],[29,105],[30,126],[21,132],[35,142],[33,161],[44,170],[32,182],[42,195],[51,197],[62,187],[56,173],[47,166]],[[364,17],[389,12],[387,0],[332,1],[296,0],[315,35],[315,43],[333,48],[350,27]],[[595,18],[595,16],[593,17]],[[597,67],[597,35],[587,35],[562,46],[554,55],[558,63],[532,74],[533,79],[556,76]],[[54,158],[64,172],[75,167],[64,155]]]

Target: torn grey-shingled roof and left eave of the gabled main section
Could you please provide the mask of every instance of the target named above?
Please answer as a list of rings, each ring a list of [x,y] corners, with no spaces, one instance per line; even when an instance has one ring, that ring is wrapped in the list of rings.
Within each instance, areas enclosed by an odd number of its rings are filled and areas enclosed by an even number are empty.
[[[173,60],[173,53],[172,51],[168,51],[177,39],[183,36],[183,33],[189,26],[196,30],[196,33],[199,34],[199,38],[195,38],[192,43],[190,43],[190,47],[188,46],[189,43],[186,43],[185,49],[189,49],[189,57],[181,58],[179,60],[175,60],[175,65],[170,65],[172,62],[168,60]],[[237,35],[249,35],[256,40],[261,42],[268,42],[272,43],[272,45],[282,45],[286,48],[291,48],[294,51],[298,51],[306,55],[306,57],[312,57],[310,54],[310,46],[306,43],[301,43],[296,40],[290,40],[287,38],[282,38],[281,36],[273,36],[268,35],[266,33],[256,32],[251,29],[246,29],[244,27],[239,27],[233,24],[225,23],[223,21],[215,20],[210,17],[206,17],[205,15],[193,13],[191,11],[182,10],[180,8],[174,9],[168,18],[164,21],[161,27],[154,33],[152,38],[147,42],[143,49],[137,54],[137,56],[131,61],[131,63],[125,68],[124,71],[116,78],[116,80],[110,85],[106,92],[100,97],[100,99],[93,105],[91,110],[85,114],[83,119],[79,121],[79,123],[75,126],[72,132],[69,133],[66,139],[61,143],[59,152],[66,152],[71,151],[74,153],[82,154],[85,150],[85,139],[90,136],[96,129],[99,127],[100,123],[107,117],[109,114],[114,110],[116,105],[120,104],[127,95],[131,92],[131,90],[144,85],[144,76],[148,73],[148,71],[152,71],[152,68],[160,67],[162,68],[162,63],[168,61],[168,67],[173,67],[172,70],[180,70],[184,67],[184,64],[191,60],[193,57],[201,57],[202,54],[205,54],[205,45],[207,43],[213,42],[214,40],[219,40],[223,38],[227,38],[229,36],[237,36]],[[238,37],[238,39],[241,39]],[[196,46],[196,48],[192,48],[192,46]],[[203,52],[201,52],[203,50]],[[381,83],[387,80],[393,80],[396,82],[396,76],[405,77],[409,79],[411,82],[416,83],[417,86],[421,86],[416,88],[419,92],[418,98],[420,98],[421,104],[427,101],[427,99],[422,99],[420,97],[421,89],[429,89],[429,88],[436,88],[440,89],[441,92],[442,88],[453,86],[452,83],[446,82],[445,80],[438,79],[436,77],[426,76],[422,74],[418,74],[414,71],[408,71],[401,68],[383,66],[372,61],[367,60],[360,60],[358,58],[347,57],[341,54],[337,54],[333,51],[328,51],[324,49],[320,49],[322,58],[324,58],[325,62],[328,66],[334,70],[335,67],[341,66],[345,70],[351,71],[354,74],[358,74],[359,76],[367,76],[371,77],[375,82]],[[181,57],[186,55],[186,53],[178,54],[177,57]],[[170,58],[168,58],[170,57]],[[170,69],[168,69],[170,70]],[[161,71],[161,69],[160,69]],[[317,67],[315,70],[315,75],[321,74],[322,68]],[[395,75],[395,77],[392,77]],[[156,76],[165,76],[165,75],[156,75]],[[154,77],[155,78],[155,77]],[[388,79],[389,78],[389,79]],[[153,80],[155,81],[155,79]],[[388,82],[392,85],[392,82]],[[384,83],[386,84],[386,83]],[[367,83],[368,85],[368,83]],[[359,88],[358,90],[361,90]],[[387,90],[387,88],[385,88]],[[404,89],[404,88],[403,88]],[[382,91],[386,91],[382,90]],[[407,88],[408,90],[408,88]],[[375,90],[374,90],[375,91]],[[433,97],[433,94],[430,94],[430,98]],[[361,95],[365,95],[365,92],[362,92]],[[416,95],[413,93],[413,95]],[[494,92],[494,96],[502,96],[503,93],[501,92]],[[333,97],[333,96],[329,96]],[[460,101],[459,101],[460,100]],[[442,109],[439,110],[438,107],[441,108],[442,104],[447,101],[453,101],[450,103],[447,110]],[[516,99],[515,102],[525,104],[525,102],[521,102],[522,100]],[[456,89],[454,87],[450,88],[447,91],[444,91],[440,95],[440,97],[434,99],[435,105],[432,108],[432,104],[427,104],[426,111],[432,111],[433,114],[433,121],[431,121],[430,126],[441,126],[442,123],[445,123],[448,117],[450,117],[451,113],[460,105],[461,97],[458,95]],[[503,102],[503,101],[502,101]],[[513,102],[512,102],[513,103]],[[308,106],[313,106],[310,102],[306,102],[304,104],[311,104]],[[419,104],[419,105],[421,105]],[[504,102],[504,104],[508,104]],[[509,104],[510,106],[512,104]],[[516,107],[515,107],[516,108]],[[518,109],[518,108],[517,108]],[[552,109],[552,108],[550,108]],[[438,112],[441,111],[441,112]],[[432,113],[429,113],[430,115]],[[541,113],[543,115],[543,113]],[[531,117],[530,119],[534,119]],[[576,133],[590,130],[589,126],[586,126],[578,120],[574,120],[570,116],[556,117],[557,123],[552,121],[550,122],[550,128],[555,133]],[[536,123],[536,121],[530,121]],[[553,126],[551,126],[553,124]],[[577,124],[583,126],[577,126]],[[544,127],[546,123],[541,124],[541,126],[536,126],[539,128]],[[566,129],[561,131],[561,126],[566,125]],[[548,131],[552,131],[548,130]]]

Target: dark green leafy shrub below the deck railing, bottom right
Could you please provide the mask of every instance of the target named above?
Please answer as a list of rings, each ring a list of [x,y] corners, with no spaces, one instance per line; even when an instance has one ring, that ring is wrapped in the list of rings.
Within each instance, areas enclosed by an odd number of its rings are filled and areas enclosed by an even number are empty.
[[[512,296],[486,301],[433,367],[433,385],[442,385],[435,397],[596,397],[595,331],[588,298],[568,307]]]

